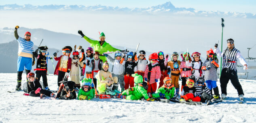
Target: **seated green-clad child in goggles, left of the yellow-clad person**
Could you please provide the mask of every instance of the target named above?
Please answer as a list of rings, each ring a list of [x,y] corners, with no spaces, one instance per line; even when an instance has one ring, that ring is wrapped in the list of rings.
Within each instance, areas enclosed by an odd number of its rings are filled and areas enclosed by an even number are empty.
[[[79,90],[77,99],[78,100],[91,100],[94,98],[95,90],[91,88],[91,79],[85,78],[83,79],[82,88]]]

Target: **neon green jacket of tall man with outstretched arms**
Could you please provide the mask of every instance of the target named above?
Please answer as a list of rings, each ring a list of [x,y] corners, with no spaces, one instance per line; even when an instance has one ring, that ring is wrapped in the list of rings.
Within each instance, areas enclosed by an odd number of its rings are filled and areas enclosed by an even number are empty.
[[[108,52],[108,51],[114,52],[116,50],[119,50],[119,49],[113,48],[107,42],[104,42],[104,44],[102,44],[102,46],[100,46],[99,41],[97,41],[97,40],[91,40],[87,36],[84,36],[84,39],[87,40],[87,42],[89,42],[91,44],[91,46],[94,47],[94,50],[98,51],[100,54],[102,54],[104,52]],[[103,60],[103,63],[107,60],[107,58],[105,56],[99,56],[99,58]]]

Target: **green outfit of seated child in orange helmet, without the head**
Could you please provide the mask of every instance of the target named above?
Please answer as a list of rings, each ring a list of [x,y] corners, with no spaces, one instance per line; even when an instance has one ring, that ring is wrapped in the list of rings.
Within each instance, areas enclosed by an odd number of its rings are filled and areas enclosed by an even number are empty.
[[[163,85],[161,88],[157,90],[157,93],[152,94],[152,97],[159,98],[160,97],[159,94],[162,93],[162,94],[165,94],[166,99],[171,99],[174,96],[174,90],[175,90],[174,85],[172,85],[169,89],[165,87],[165,85]]]

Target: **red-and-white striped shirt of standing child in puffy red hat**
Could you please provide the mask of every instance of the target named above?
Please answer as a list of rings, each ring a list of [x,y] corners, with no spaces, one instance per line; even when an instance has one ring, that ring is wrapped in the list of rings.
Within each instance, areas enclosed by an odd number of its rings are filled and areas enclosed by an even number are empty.
[[[151,69],[149,84],[156,82],[155,79],[160,79],[161,78],[160,66],[154,67],[154,65],[157,65],[157,64],[158,64],[157,62],[151,63],[152,69]],[[148,65],[146,66],[144,78],[148,78]]]

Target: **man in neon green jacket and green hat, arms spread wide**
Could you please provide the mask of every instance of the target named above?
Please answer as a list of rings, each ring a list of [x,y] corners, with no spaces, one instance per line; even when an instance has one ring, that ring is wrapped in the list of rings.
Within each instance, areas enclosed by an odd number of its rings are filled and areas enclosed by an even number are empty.
[[[116,51],[119,49],[113,48],[110,44],[108,44],[105,41],[105,34],[102,32],[99,35],[99,39],[100,41],[97,40],[91,40],[90,38],[88,38],[87,36],[85,36],[83,34],[83,32],[81,30],[78,31],[78,34],[80,34],[82,36],[82,38],[84,38],[85,40],[87,40],[87,42],[89,42],[91,44],[91,46],[94,47],[95,51],[99,51],[100,54],[103,54],[104,52],[111,52],[111,51]],[[119,50],[120,51],[120,50]],[[99,56],[99,58],[101,60],[103,60],[103,63],[107,60],[106,56]]]

